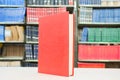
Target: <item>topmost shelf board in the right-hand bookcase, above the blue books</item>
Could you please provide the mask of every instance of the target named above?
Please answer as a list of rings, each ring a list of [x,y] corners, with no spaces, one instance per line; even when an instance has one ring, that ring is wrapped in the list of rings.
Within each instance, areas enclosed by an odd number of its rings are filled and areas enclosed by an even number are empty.
[[[79,5],[79,7],[91,7],[91,8],[118,8],[120,5]]]

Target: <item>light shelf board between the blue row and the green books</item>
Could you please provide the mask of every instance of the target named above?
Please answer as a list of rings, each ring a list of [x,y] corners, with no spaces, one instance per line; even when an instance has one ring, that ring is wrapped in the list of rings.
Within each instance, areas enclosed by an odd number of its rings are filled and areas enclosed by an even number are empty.
[[[79,25],[99,25],[99,26],[102,26],[102,25],[120,25],[120,23],[102,23],[102,22],[79,22]]]

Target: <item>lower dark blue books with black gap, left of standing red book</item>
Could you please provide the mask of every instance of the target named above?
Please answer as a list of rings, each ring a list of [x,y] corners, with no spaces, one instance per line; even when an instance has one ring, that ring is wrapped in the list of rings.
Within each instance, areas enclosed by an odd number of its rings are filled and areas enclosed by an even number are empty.
[[[25,59],[38,59],[38,44],[25,44]]]

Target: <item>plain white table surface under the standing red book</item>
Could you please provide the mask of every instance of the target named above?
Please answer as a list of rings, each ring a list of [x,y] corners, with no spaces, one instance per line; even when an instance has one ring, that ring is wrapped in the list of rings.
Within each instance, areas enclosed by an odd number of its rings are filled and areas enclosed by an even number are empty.
[[[37,72],[34,67],[0,67],[0,80],[120,80],[120,69],[75,68],[74,76]]]

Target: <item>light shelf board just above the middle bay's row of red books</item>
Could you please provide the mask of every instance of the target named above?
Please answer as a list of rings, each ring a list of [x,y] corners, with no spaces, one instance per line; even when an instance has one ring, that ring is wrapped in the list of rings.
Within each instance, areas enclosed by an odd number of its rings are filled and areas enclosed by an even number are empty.
[[[27,5],[27,7],[67,7],[67,8],[73,8],[74,5]]]

